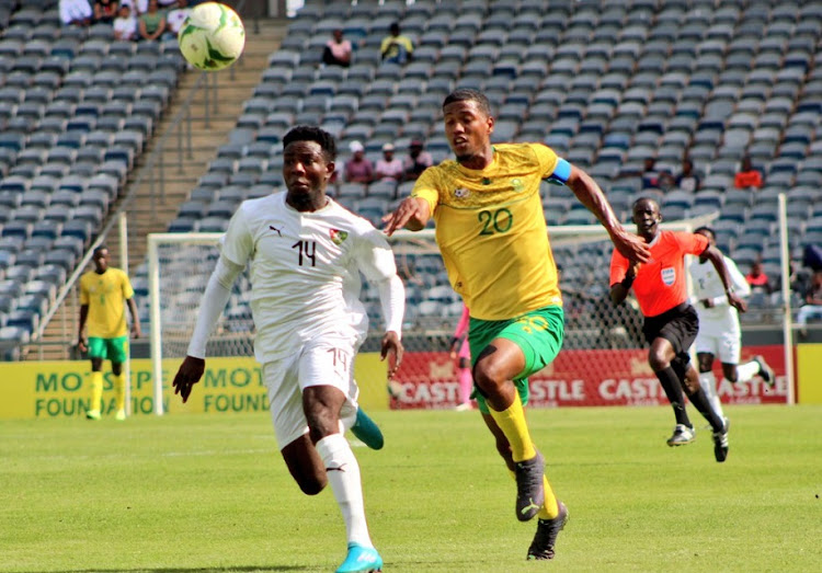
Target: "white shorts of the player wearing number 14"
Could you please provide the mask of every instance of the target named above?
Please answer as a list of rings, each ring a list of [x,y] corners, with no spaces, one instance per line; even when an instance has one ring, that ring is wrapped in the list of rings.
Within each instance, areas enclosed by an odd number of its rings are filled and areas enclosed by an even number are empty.
[[[345,394],[340,411],[340,433],[354,423],[359,389],[354,381],[356,349],[347,341],[324,340],[301,352],[263,365],[263,382],[269,389],[269,408],[277,445],[282,450],[308,433],[302,410],[302,390],[309,386],[333,386]]]

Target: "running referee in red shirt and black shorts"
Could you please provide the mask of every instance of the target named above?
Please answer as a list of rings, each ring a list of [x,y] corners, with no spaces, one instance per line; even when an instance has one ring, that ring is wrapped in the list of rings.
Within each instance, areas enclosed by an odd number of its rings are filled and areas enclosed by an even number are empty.
[[[674,434],[669,446],[684,446],[694,440],[694,426],[685,411],[683,389],[690,403],[699,410],[713,428],[713,454],[717,461],[728,457],[728,420],[723,420],[710,405],[699,387],[699,374],[690,364],[688,349],[694,344],[699,319],[688,303],[685,278],[685,255],[708,259],[726,287],[728,302],[745,311],[745,302],[733,291],[722,253],[708,243],[701,234],[660,230],[662,221],[659,204],[648,197],[633,203],[633,222],[637,233],[648,243],[651,260],[643,264],[631,263],[619,252],[610,257],[610,300],[619,305],[633,288],[644,324],[642,332],[651,345],[648,363],[659,378],[676,416]]]

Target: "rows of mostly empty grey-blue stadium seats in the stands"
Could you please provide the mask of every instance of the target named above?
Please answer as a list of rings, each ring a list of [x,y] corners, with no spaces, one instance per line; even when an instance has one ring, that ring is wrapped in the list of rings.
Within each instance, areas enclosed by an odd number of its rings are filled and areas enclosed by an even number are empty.
[[[0,278],[11,293],[3,291],[11,303],[0,305],[4,329],[26,285],[41,280],[18,271],[31,266],[33,249],[45,251],[50,241],[43,263],[72,270],[151,137],[180,70],[169,44],[114,42],[105,26],[64,28],[56,2],[41,5],[15,10],[16,2],[0,1],[7,24],[0,36]],[[416,46],[403,67],[379,58],[393,21]],[[347,69],[319,65],[336,27],[355,44]],[[720,247],[743,271],[762,260],[776,279],[777,195],[788,196],[792,259],[822,233],[821,31],[822,8],[808,0],[307,0],[170,230],[222,230],[240,200],[282,190],[281,141],[296,123],[334,134],[339,165],[354,139],[373,161],[385,142],[402,157],[411,139],[423,139],[439,161],[449,156],[439,106],[464,85],[491,98],[494,141],[553,147],[596,177],[626,221],[642,193],[660,197],[667,219],[718,210]],[[743,154],[761,170],[762,188],[733,188]],[[685,156],[704,175],[694,192],[643,190],[630,175],[647,157],[676,173]],[[341,182],[335,194],[378,222],[410,186]],[[561,187],[545,186],[544,205],[550,225],[595,222]],[[566,254],[592,264],[605,256],[580,249]],[[444,284],[442,263],[414,263],[421,284]],[[415,302],[414,320],[449,322],[459,314],[453,300],[430,291]],[[28,323],[14,317],[13,328],[25,331]],[[4,335],[19,340],[21,332]]]

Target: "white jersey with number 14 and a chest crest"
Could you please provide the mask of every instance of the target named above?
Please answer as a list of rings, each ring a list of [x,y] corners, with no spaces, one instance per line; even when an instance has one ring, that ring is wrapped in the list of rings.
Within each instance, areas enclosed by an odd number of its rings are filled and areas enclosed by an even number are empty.
[[[251,273],[254,355],[265,364],[319,336],[361,344],[368,330],[359,272],[374,282],[397,274],[388,241],[333,199],[301,213],[286,193],[243,202],[221,240],[222,256]]]

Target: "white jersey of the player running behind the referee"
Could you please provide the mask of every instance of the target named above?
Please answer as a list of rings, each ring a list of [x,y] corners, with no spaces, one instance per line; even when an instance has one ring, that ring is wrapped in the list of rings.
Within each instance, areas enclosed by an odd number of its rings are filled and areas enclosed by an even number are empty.
[[[734,290],[741,297],[751,294],[745,277],[742,276],[737,263],[723,256],[724,265],[731,277]],[[697,259],[690,263],[690,277],[694,279],[694,308],[699,316],[699,330],[717,334],[720,332],[740,332],[739,313],[737,309],[728,303],[728,296],[722,286],[722,279],[710,261],[700,263]],[[713,308],[705,308],[701,300],[706,298],[713,300]]]

